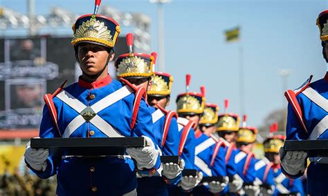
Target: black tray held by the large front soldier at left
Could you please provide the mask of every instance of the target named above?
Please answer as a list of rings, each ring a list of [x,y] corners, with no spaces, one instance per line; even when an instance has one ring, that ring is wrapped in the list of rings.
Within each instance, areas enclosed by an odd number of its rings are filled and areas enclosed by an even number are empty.
[[[31,148],[47,148],[50,155],[125,155],[128,147],[144,147],[144,137],[32,138]]]

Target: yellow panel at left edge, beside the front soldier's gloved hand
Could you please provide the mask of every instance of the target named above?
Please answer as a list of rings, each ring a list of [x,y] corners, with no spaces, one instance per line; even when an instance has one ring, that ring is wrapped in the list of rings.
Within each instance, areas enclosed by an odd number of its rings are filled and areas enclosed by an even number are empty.
[[[13,174],[15,170],[24,163],[25,146],[0,146],[0,175],[9,172]]]

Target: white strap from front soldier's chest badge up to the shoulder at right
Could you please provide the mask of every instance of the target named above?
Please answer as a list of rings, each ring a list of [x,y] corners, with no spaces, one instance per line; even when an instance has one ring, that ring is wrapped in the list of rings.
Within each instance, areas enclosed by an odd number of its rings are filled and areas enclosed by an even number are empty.
[[[111,106],[112,104],[115,104],[117,101],[120,101],[120,99],[124,99],[128,95],[130,95],[133,92],[129,86],[123,86],[122,88],[116,90],[115,92],[111,93],[110,95],[107,95],[106,97],[102,98],[97,103],[93,104],[91,108],[95,113],[100,112],[104,108],[107,108],[108,106]]]

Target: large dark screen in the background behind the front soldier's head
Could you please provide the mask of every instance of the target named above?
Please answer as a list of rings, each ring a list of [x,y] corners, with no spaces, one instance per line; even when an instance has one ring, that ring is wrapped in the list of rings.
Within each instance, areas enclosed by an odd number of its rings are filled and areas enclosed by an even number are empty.
[[[0,48],[0,130],[38,128],[43,96],[81,75],[71,37],[3,38]],[[119,37],[116,57],[126,52],[125,37]],[[109,66],[112,75],[116,70]]]

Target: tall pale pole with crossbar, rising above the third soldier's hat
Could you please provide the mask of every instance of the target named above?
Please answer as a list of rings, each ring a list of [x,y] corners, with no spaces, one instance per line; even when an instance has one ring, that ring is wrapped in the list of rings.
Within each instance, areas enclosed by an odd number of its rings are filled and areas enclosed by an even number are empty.
[[[157,4],[157,42],[158,42],[158,70],[165,72],[165,48],[164,48],[164,10],[163,4],[170,3],[172,0],[150,0],[150,3]]]

